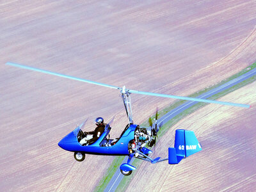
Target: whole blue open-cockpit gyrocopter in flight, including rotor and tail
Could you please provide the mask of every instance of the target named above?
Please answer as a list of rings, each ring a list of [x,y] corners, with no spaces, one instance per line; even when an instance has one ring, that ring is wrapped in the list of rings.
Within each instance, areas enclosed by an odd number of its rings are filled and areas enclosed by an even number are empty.
[[[202,150],[202,147],[196,139],[195,133],[193,131],[177,129],[175,132],[174,148],[168,148],[168,159],[161,159],[161,157],[156,157],[152,159],[151,157],[149,157],[148,155],[151,154],[152,151],[146,148],[146,145],[148,145],[148,147],[152,147],[156,143],[157,132],[159,131],[159,129],[161,129],[161,125],[157,124],[157,113],[155,122],[154,124],[150,124],[150,127],[141,127],[140,125],[134,124],[132,120],[131,93],[250,108],[250,106],[247,104],[236,104],[232,102],[221,102],[217,100],[180,97],[175,95],[164,95],[150,92],[139,92],[136,90],[125,88],[125,86],[121,88],[109,84],[97,83],[95,81],[66,76],[56,72],[42,70],[40,68],[28,67],[26,65],[20,65],[17,63],[8,62],[6,63],[6,65],[119,90],[129,120],[129,123],[126,125],[124,131],[119,138],[109,138],[109,131],[111,131],[111,122],[113,122],[114,118],[108,124],[104,124],[103,118],[99,118],[97,121],[99,121],[98,123],[103,126],[102,131],[96,132],[95,135],[83,132],[82,129],[86,124],[86,121],[84,121],[81,125],[76,127],[74,131],[67,134],[67,136],[65,136],[58,143],[58,145],[64,150],[74,152],[74,158],[77,161],[83,161],[85,158],[85,154],[95,154],[102,156],[128,156],[129,158],[127,160],[127,163],[124,163],[120,166],[120,171],[124,175],[131,175],[132,170],[136,169],[136,167],[130,164],[132,158],[141,159],[150,163],[168,161],[169,164],[178,164],[182,159],[184,159],[184,157],[191,156],[192,154],[195,154],[196,152]],[[93,143],[89,142],[92,141],[93,137],[96,137],[96,139],[94,138],[95,140],[93,140]]]

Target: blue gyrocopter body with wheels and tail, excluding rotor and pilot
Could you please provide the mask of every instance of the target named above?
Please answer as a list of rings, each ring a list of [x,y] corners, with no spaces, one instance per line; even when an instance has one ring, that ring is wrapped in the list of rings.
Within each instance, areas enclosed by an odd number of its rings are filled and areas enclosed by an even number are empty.
[[[74,157],[77,161],[83,161],[85,157],[84,154],[129,156],[127,163],[120,166],[120,170],[124,175],[130,175],[132,170],[136,169],[136,167],[130,164],[132,157],[150,163],[159,163],[168,160],[169,164],[178,164],[184,157],[191,156],[202,150],[193,131],[177,129],[174,148],[168,148],[168,158],[161,159],[160,157],[157,157],[156,159],[152,159],[148,156],[152,151],[143,147],[144,145],[141,145],[141,141],[144,140],[142,132],[145,128],[140,128],[139,125],[135,124],[128,124],[120,138],[115,140],[107,138],[109,131],[111,130],[110,125],[107,124],[104,132],[99,136],[97,141],[91,145],[81,145],[79,141],[81,141],[81,136],[83,135],[81,128],[84,127],[84,124],[85,122],[74,131],[67,134],[58,145],[65,150],[74,152]],[[146,142],[147,140],[144,141]]]

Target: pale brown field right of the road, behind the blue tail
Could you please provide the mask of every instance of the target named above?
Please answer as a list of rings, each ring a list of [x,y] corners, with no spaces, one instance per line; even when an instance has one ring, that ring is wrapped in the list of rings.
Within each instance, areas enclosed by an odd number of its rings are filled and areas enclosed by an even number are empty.
[[[221,100],[250,103],[242,109],[209,104],[172,127],[154,156],[168,156],[176,129],[195,131],[203,150],[178,165],[142,163],[127,191],[254,191],[256,82]]]

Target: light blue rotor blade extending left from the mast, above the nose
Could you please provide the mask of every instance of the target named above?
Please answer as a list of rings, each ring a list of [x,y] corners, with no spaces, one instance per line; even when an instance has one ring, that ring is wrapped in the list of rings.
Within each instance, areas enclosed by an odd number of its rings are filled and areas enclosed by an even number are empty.
[[[20,64],[17,64],[17,63],[7,62],[7,63],[5,63],[5,65],[10,65],[10,66],[13,66],[13,67],[19,67],[19,68],[24,68],[24,69],[28,69],[28,70],[33,70],[33,71],[36,71],[36,72],[41,72],[43,74],[50,74],[52,76],[64,77],[64,78],[67,78],[67,79],[73,79],[73,80],[76,80],[76,81],[82,81],[82,82],[85,82],[85,83],[91,83],[91,84],[97,84],[97,85],[100,85],[100,86],[106,86],[108,88],[119,89],[119,90],[122,89],[118,86],[112,86],[112,85],[109,85],[109,84],[98,83],[98,82],[95,82],[95,81],[89,81],[87,79],[81,79],[81,78],[78,78],[78,77],[66,76],[64,74],[51,72],[49,70],[44,70],[44,69],[35,68],[35,67],[29,67],[29,66],[20,65]]]

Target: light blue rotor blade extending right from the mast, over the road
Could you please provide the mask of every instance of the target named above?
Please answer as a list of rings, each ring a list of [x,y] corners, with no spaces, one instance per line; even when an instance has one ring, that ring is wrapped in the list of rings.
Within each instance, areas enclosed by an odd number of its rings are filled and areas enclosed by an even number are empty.
[[[197,102],[209,102],[209,103],[221,104],[221,105],[227,105],[227,106],[250,108],[250,105],[238,104],[238,103],[233,103],[233,102],[223,102],[223,101],[218,101],[218,100],[199,99],[199,98],[193,98],[193,97],[181,97],[181,96],[175,96],[175,95],[165,95],[165,94],[161,94],[161,93],[139,92],[136,90],[129,90],[129,92],[141,94],[141,95],[152,95],[152,96],[157,96],[157,97],[167,97],[167,98],[173,98],[173,99],[192,100],[192,101],[197,101]]]

